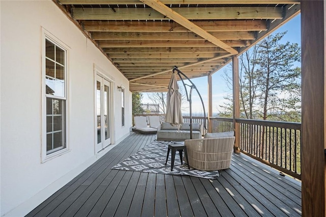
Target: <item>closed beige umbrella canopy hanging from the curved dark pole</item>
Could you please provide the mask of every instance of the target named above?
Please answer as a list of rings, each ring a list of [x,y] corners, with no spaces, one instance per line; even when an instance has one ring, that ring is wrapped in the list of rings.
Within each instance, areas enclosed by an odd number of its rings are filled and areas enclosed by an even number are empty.
[[[178,125],[183,123],[183,118],[181,113],[181,94],[179,93],[176,73],[172,73],[168,89],[166,122]]]

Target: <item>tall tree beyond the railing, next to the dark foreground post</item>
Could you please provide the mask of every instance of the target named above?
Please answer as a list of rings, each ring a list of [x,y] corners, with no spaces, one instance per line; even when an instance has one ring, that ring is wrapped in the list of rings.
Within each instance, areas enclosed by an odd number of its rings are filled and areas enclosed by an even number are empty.
[[[300,102],[301,69],[294,67],[294,63],[300,62],[301,51],[296,43],[280,43],[285,34],[266,37],[257,50],[259,105],[263,108],[259,115],[263,120],[268,117],[282,120],[281,115],[297,110]]]

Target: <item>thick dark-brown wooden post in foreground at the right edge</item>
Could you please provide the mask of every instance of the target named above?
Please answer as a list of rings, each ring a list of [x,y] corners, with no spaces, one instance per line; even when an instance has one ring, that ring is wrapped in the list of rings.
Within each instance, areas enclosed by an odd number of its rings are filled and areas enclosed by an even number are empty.
[[[301,1],[302,216],[325,216],[325,1]]]

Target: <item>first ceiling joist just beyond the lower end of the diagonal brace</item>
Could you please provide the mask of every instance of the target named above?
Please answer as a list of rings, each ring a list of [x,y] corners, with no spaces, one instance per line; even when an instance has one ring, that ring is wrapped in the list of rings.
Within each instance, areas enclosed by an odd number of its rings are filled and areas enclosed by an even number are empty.
[[[216,57],[216,53],[111,53],[108,55],[114,59],[125,58],[213,58]]]

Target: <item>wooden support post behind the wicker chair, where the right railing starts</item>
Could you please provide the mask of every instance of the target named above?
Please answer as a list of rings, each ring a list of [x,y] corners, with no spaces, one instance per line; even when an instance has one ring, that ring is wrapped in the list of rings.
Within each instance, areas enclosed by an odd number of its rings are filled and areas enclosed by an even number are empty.
[[[235,134],[234,152],[239,153],[239,126],[235,122],[240,117],[240,96],[239,96],[239,59],[232,57],[232,81],[233,81],[233,129]]]

